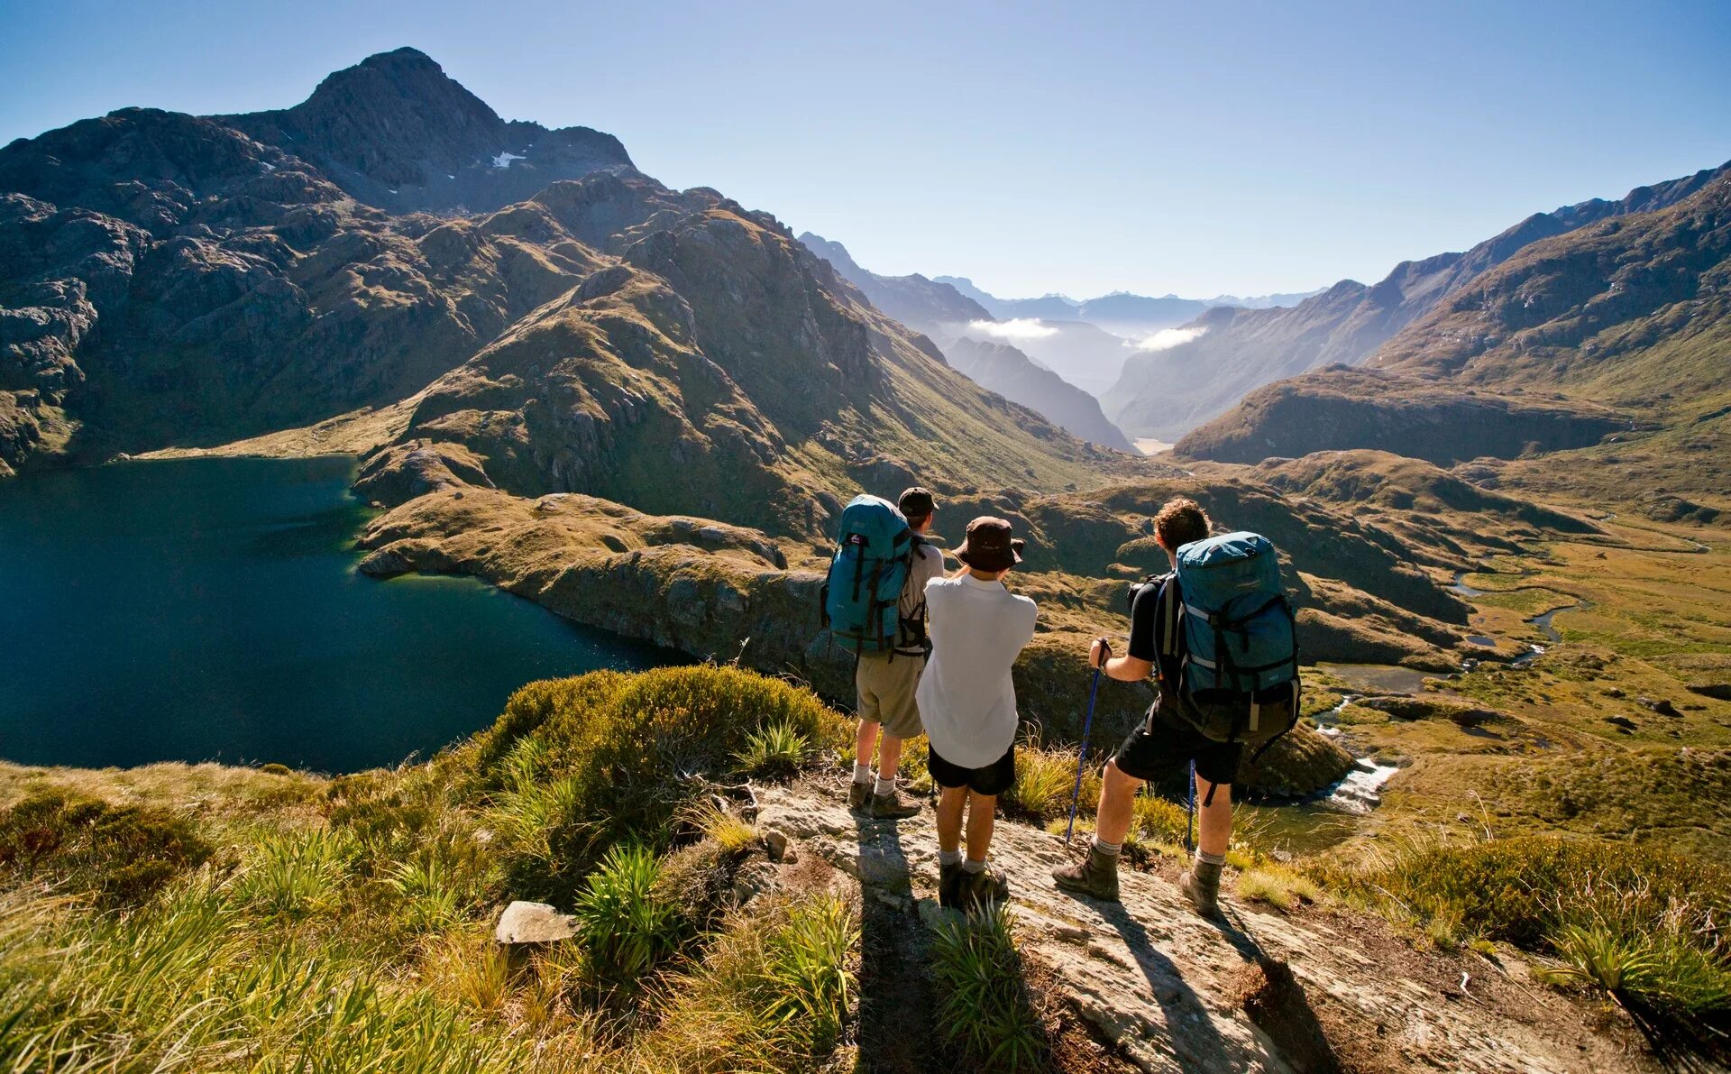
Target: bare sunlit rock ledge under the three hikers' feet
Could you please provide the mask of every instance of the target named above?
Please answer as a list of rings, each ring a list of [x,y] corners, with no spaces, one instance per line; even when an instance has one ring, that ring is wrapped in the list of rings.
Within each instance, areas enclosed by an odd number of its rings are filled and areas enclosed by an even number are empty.
[[[769,790],[758,825],[860,880],[862,1069],[928,1069],[917,922],[945,913],[931,812],[862,821],[840,790],[807,785]],[[1025,954],[1129,1069],[1657,1069],[1629,1041],[1587,1029],[1580,1006],[1522,982],[1520,967],[1506,975],[1480,956],[1418,953],[1374,918],[1288,916],[1227,897],[1227,923],[1215,925],[1189,913],[1168,877],[1129,870],[1118,906],[1070,897],[1049,878],[1063,840],[1014,823],[999,823],[992,861],[1009,877]]]

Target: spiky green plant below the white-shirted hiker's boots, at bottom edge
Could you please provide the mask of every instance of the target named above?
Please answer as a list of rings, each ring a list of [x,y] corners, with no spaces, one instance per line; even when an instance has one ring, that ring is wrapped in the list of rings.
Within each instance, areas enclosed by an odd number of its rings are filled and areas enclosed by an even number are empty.
[[[1028,1000],[1007,906],[945,922],[931,944],[938,1022],[980,1071],[1035,1071],[1046,1036]]]

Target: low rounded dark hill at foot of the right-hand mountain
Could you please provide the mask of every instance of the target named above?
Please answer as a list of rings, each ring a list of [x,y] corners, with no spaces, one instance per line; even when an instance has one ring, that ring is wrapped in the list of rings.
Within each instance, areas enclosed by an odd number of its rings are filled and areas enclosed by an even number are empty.
[[[1627,431],[1631,417],[1560,398],[1461,390],[1367,369],[1335,367],[1258,388],[1177,442],[1179,457],[1219,463],[1383,450],[1454,466],[1568,450]]]

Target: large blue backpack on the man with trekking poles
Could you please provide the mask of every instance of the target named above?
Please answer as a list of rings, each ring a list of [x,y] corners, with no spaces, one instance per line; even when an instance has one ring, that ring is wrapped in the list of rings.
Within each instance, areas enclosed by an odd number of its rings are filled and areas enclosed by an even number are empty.
[[[1213,741],[1265,747],[1298,722],[1298,624],[1274,544],[1222,534],[1177,551],[1179,712]],[[1260,750],[1258,750],[1260,752]]]

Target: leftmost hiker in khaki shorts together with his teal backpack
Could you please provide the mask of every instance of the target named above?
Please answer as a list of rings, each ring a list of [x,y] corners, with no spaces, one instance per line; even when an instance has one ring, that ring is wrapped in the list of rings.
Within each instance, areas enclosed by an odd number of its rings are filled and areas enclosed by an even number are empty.
[[[926,582],[943,577],[943,553],[924,540],[936,511],[936,499],[919,487],[904,492],[893,508],[878,497],[857,497],[841,513],[841,549],[827,582],[831,631],[859,655],[853,688],[860,728],[848,809],[878,819],[919,812],[919,802],[897,788],[895,769],[902,741],[924,733],[914,688],[930,648]]]

